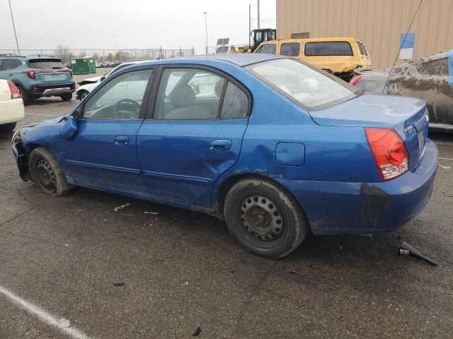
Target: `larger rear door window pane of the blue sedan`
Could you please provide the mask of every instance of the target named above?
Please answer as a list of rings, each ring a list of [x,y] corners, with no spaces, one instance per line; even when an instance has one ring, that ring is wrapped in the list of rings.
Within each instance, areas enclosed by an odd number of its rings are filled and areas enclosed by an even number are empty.
[[[154,119],[217,119],[225,79],[200,69],[165,69]]]

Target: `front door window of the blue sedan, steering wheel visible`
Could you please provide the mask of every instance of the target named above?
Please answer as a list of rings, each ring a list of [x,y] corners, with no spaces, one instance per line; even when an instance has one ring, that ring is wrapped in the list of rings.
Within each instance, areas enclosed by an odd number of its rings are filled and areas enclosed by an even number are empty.
[[[139,119],[151,69],[121,74],[105,83],[84,107],[84,119]]]

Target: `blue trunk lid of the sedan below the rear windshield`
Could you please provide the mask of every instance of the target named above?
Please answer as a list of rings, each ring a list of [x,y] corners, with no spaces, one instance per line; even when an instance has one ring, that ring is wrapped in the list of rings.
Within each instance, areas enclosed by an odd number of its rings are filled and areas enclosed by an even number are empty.
[[[310,111],[310,115],[322,126],[394,129],[406,145],[411,171],[418,167],[425,153],[429,124],[423,100],[364,94],[340,105]]]

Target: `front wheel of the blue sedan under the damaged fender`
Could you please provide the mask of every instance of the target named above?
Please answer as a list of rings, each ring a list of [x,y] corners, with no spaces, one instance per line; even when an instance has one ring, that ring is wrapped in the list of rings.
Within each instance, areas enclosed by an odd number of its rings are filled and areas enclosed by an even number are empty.
[[[35,148],[28,157],[28,168],[36,186],[50,196],[65,196],[74,188],[68,184],[55,157],[42,147]]]

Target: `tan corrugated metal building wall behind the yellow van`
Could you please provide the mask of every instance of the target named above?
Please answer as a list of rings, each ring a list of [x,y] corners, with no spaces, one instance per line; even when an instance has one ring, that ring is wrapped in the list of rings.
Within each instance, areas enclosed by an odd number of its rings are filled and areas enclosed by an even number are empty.
[[[393,64],[400,36],[420,0],[277,0],[277,36],[352,36],[365,42],[373,67]],[[453,0],[423,0],[413,22],[413,59],[453,49]]]

